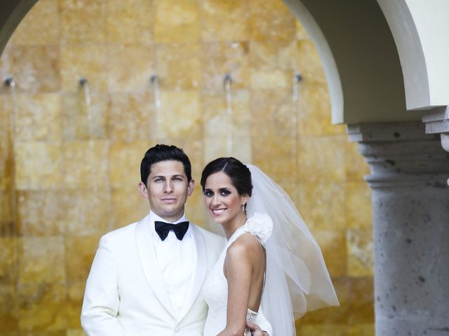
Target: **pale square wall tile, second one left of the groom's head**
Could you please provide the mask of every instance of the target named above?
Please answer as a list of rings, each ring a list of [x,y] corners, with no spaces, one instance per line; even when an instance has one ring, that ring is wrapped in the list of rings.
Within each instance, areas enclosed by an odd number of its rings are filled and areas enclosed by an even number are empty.
[[[99,177],[107,183],[107,175]],[[100,237],[112,230],[111,190],[107,184],[102,188],[67,190],[62,197],[65,212],[65,233],[69,236]]]

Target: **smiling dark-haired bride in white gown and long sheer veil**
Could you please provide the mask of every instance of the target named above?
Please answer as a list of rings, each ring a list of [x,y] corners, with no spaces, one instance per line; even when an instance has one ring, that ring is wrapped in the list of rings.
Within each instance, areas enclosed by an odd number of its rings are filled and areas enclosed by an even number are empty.
[[[295,318],[338,305],[318,244],[274,181],[255,166],[218,158],[203,169],[201,187],[227,237],[203,286],[204,336],[251,335],[251,323],[293,336]]]

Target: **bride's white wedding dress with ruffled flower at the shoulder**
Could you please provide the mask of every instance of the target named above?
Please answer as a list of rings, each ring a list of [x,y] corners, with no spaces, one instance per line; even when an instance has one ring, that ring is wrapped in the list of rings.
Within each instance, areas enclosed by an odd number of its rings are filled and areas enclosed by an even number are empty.
[[[225,249],[222,251],[213,269],[210,270],[203,286],[203,297],[209,307],[203,336],[216,336],[226,327],[227,279],[223,273],[223,266],[225,264],[227,248],[246,232],[255,236],[263,245],[272,234],[272,229],[273,222],[268,215],[255,213],[254,216],[248,218],[246,223],[229,237]],[[263,321],[267,321],[260,308],[257,312],[248,309],[246,319],[259,325],[261,323],[266,325]]]

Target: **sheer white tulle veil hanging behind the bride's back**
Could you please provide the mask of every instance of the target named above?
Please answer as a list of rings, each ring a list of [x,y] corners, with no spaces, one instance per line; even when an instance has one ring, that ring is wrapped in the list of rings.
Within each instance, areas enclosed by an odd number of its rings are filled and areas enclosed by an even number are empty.
[[[295,318],[306,311],[339,304],[321,249],[288,194],[253,165],[253,195],[247,216],[268,214],[272,236],[264,244],[267,272],[262,309],[274,336],[295,335]]]

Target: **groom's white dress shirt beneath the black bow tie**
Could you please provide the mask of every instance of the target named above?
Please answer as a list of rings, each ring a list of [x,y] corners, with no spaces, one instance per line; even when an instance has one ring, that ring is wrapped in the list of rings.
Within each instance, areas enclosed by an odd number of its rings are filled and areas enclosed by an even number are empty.
[[[150,211],[149,225],[154,241],[154,255],[175,314],[180,316],[185,298],[191,290],[192,274],[196,267],[194,239],[189,226],[182,240],[177,239],[175,232],[170,230],[162,241],[154,228],[155,221],[168,222]],[[184,221],[187,221],[185,215],[173,224]]]

